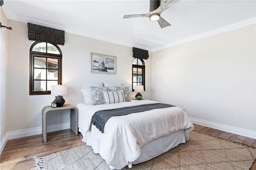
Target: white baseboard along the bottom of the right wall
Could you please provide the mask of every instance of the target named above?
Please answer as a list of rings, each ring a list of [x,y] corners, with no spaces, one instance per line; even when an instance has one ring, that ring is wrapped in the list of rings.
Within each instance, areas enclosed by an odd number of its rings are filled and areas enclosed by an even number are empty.
[[[202,126],[210,127],[213,129],[218,129],[220,131],[225,131],[225,132],[229,132],[229,133],[234,133],[236,135],[241,135],[244,137],[256,139],[256,131],[243,129],[240,127],[234,127],[234,126],[230,126],[230,125],[224,125],[221,123],[215,123],[215,122],[206,121],[206,120],[202,120],[202,119],[196,119],[193,117],[189,117],[189,118],[192,121],[192,123],[195,123],[197,125],[202,125]]]

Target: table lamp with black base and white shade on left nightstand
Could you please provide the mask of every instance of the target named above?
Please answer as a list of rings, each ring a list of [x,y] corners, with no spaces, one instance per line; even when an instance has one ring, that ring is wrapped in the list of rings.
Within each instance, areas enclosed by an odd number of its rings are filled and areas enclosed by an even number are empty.
[[[54,99],[54,102],[56,102],[57,107],[62,107],[64,105],[65,100],[63,96],[60,96],[60,95],[68,94],[67,89],[68,88],[66,85],[52,85],[51,94],[58,95],[58,96],[55,96],[55,99]]]

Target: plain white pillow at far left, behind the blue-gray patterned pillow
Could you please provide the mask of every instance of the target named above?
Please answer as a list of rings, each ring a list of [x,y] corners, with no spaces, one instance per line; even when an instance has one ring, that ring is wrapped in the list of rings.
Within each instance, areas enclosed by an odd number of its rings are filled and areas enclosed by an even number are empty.
[[[92,104],[92,92],[90,86],[94,87],[103,87],[103,83],[82,83],[81,92],[84,96],[84,103],[85,104]]]

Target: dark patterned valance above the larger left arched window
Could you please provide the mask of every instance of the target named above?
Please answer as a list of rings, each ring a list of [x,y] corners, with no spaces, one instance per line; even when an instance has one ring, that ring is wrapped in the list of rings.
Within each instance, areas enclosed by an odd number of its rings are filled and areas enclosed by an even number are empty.
[[[28,39],[64,45],[65,31],[28,23]]]

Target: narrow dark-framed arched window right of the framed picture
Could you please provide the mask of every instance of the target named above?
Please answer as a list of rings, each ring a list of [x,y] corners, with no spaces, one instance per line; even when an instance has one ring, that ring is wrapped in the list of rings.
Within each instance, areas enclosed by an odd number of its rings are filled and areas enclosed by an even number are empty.
[[[132,61],[132,92],[134,86],[144,86],[145,91],[145,63],[143,59],[134,58]]]

